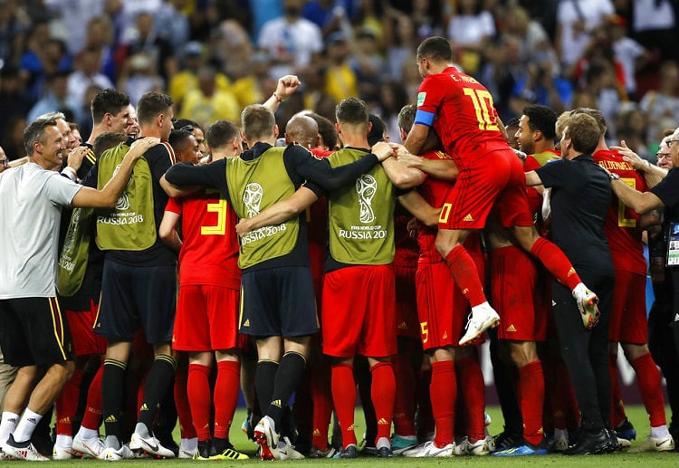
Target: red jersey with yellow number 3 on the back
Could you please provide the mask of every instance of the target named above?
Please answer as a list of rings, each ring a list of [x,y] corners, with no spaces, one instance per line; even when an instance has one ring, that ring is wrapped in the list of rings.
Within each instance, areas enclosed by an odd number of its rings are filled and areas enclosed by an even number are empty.
[[[166,211],[181,215],[183,244],[179,284],[211,284],[239,290],[238,218],[224,196],[212,189],[170,198]]]

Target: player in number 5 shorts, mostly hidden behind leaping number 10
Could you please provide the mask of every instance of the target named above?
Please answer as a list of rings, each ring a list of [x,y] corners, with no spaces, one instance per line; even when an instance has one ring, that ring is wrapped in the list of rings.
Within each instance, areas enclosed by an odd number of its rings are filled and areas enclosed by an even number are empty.
[[[398,114],[401,138],[413,126],[416,106],[404,107]],[[442,206],[457,177],[453,159],[440,150],[430,150],[421,156],[401,155],[399,161],[417,167],[428,177],[418,187],[420,194],[432,206]],[[399,201],[406,206],[402,197]],[[435,249],[436,218],[431,226],[423,225],[417,231],[420,255],[416,272],[417,315],[420,321],[420,338],[423,348],[432,360],[429,394],[435,420],[435,438],[406,450],[407,457],[439,457],[452,454],[487,455],[490,453],[489,440],[484,434],[483,375],[472,348],[460,348],[458,338],[464,331],[464,320],[468,312],[467,302],[454,279],[447,274],[447,267]],[[481,277],[484,259],[480,236],[473,234],[465,242],[476,263]],[[458,398],[464,400],[466,408],[466,432],[459,431],[454,424]],[[454,446],[455,433],[466,434],[467,442]]]

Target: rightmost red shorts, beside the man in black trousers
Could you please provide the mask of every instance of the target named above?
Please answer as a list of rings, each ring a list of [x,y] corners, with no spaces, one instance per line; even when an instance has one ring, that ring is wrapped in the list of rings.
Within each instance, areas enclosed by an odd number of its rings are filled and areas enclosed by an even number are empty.
[[[616,272],[608,339],[617,343],[643,345],[648,342],[646,320],[646,275]]]

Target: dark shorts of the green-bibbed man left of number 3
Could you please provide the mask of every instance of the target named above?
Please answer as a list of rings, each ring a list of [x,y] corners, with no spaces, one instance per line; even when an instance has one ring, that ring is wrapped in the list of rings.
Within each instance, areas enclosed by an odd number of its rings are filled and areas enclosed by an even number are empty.
[[[174,265],[129,266],[104,262],[99,316],[94,331],[108,339],[132,341],[139,327],[147,341],[169,343],[177,309]]]

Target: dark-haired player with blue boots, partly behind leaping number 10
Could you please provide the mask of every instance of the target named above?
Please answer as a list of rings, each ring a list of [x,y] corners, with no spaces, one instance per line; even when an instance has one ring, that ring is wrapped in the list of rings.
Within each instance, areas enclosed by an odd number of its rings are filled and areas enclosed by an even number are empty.
[[[557,114],[547,106],[531,105],[523,110],[515,137],[519,148],[528,156],[524,170],[542,166],[559,158],[554,149],[554,124]],[[542,196],[528,188],[531,214],[538,219]],[[499,346],[509,356],[518,372],[516,396],[520,401],[523,420],[522,442],[498,449],[493,456],[547,454],[542,427],[545,379],[536,342],[547,338],[547,316],[550,298],[546,284],[540,281],[540,267],[519,247],[512,244],[509,233],[491,223],[488,234],[491,255],[493,304],[500,310],[502,326],[498,328]],[[551,292],[550,290],[548,290]],[[567,445],[568,446],[568,445]]]

